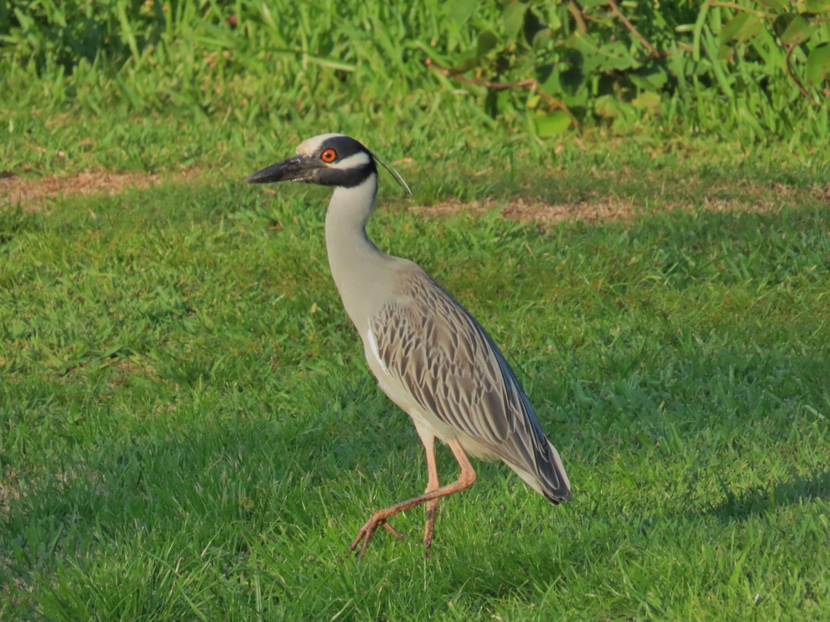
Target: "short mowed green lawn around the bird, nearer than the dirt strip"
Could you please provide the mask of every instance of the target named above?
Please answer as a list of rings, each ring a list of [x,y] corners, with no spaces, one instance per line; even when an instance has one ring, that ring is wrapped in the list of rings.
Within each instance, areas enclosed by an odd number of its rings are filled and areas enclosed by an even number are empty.
[[[384,179],[374,239],[491,332],[574,487],[476,463],[428,559],[420,508],[347,554],[426,465],[330,281],[325,189],[0,208],[0,619],[828,619],[828,199],[668,210],[661,174],[662,203],[548,226]]]

